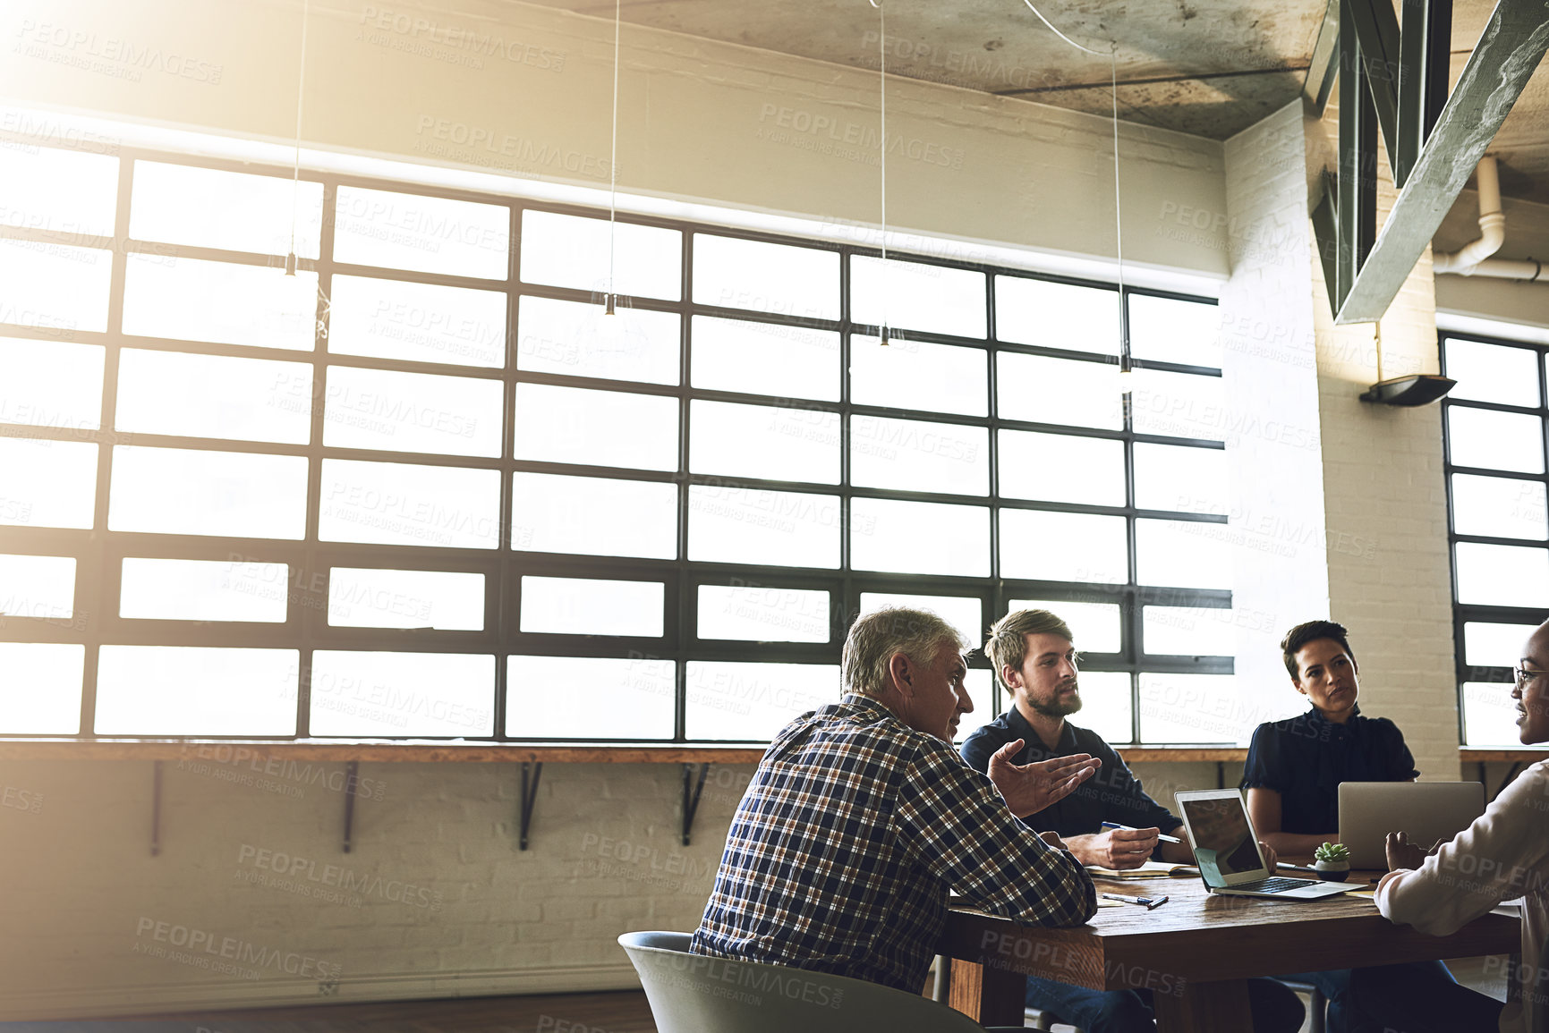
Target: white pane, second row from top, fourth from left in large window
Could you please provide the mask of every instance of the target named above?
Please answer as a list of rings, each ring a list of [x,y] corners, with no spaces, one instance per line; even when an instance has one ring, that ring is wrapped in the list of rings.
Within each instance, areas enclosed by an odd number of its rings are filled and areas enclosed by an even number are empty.
[[[527,294],[516,307],[516,367],[646,384],[678,383],[682,316]]]

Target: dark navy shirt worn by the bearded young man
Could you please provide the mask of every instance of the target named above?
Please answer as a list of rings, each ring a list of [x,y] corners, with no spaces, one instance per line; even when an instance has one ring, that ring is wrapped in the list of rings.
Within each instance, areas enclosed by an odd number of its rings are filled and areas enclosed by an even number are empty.
[[[990,757],[994,751],[1016,739],[1025,742],[1021,753],[1011,757],[1016,764],[1069,757],[1072,753],[1089,753],[1103,760],[1103,767],[1086,782],[1081,782],[1073,793],[1022,818],[1022,822],[1035,832],[1084,836],[1103,832],[1101,822],[1104,821],[1117,821],[1121,825],[1160,829],[1166,833],[1183,824],[1173,812],[1146,796],[1140,779],[1131,774],[1101,736],[1087,728],[1077,728],[1070,722],[1066,722],[1064,728],[1060,729],[1058,745],[1049,750],[1021,711],[1013,706],[963,740],[963,760],[974,770],[988,774]]]

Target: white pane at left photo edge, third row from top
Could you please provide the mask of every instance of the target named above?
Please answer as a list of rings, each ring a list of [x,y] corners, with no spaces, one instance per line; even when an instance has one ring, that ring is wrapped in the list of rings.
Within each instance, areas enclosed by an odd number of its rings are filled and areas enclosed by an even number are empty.
[[[0,338],[0,423],[96,431],[104,355],[99,344]]]

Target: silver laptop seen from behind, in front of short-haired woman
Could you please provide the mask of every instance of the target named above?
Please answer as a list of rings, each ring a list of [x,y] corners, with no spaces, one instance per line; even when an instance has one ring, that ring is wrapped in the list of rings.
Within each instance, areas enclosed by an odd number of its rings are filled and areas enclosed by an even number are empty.
[[[1389,832],[1422,850],[1447,841],[1484,813],[1481,782],[1340,782],[1340,843],[1351,867],[1388,867]]]

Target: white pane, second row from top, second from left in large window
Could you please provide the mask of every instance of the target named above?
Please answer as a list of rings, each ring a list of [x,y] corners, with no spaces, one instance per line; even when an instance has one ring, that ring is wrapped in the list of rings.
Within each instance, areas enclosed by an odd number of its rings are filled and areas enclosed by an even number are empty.
[[[263,265],[132,254],[124,333],[311,352],[318,274]]]

